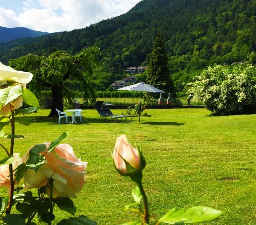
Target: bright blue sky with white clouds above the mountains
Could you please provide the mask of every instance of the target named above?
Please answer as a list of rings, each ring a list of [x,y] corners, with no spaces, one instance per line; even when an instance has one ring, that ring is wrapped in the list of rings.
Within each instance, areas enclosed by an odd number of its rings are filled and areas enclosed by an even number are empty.
[[[0,0],[0,26],[49,33],[84,28],[129,11],[140,0]]]

